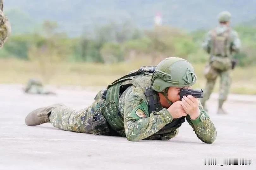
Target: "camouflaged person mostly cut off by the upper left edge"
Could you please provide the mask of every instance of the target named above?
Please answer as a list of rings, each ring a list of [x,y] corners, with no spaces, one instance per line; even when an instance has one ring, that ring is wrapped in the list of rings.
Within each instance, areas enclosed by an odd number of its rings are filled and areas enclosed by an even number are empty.
[[[3,0],[0,0],[0,48],[3,46],[11,33],[9,20],[3,14]]]

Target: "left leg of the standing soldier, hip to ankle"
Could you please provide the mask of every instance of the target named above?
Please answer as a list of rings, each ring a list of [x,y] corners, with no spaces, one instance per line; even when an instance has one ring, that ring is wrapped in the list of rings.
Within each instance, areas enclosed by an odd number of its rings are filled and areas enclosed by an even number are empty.
[[[205,110],[207,110],[207,108],[205,108],[205,102],[210,98],[210,95],[216,82],[217,75],[217,71],[213,69],[210,65],[205,67],[204,76],[207,81],[204,88],[204,97],[200,99],[200,102]]]

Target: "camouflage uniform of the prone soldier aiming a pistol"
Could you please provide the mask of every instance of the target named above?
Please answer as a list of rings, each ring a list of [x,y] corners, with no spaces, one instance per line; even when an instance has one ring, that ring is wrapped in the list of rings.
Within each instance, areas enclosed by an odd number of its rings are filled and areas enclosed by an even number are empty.
[[[98,129],[92,134],[117,135],[126,137],[129,141],[141,139],[169,140],[178,134],[178,127],[173,127],[169,131],[161,131],[168,123],[174,121],[170,113],[159,105],[151,113],[147,113],[148,101],[144,94],[144,88],[151,85],[152,74],[134,76],[137,78],[137,86],[129,86],[119,97],[118,109],[120,116],[124,119],[124,129],[114,132],[108,123],[104,128]],[[125,83],[125,82],[123,82]],[[59,107],[52,110],[49,116],[54,127],[80,133],[88,133],[86,127],[90,122],[90,117],[101,108],[104,99],[101,98],[103,91],[100,91],[94,98],[93,104],[81,111],[75,111],[67,107]],[[140,109],[137,111],[137,109]],[[192,126],[197,137],[205,143],[212,143],[216,138],[216,128],[210,121],[202,105],[200,116],[196,120],[191,120],[186,116],[186,120]],[[144,114],[143,114],[143,113]]]

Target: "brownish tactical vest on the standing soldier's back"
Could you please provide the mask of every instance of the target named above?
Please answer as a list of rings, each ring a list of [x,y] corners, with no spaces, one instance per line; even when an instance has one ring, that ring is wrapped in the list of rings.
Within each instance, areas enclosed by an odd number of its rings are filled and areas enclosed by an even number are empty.
[[[211,55],[229,57],[230,55],[230,31],[228,28],[221,34],[216,33],[216,29],[212,31],[212,45],[211,45]]]

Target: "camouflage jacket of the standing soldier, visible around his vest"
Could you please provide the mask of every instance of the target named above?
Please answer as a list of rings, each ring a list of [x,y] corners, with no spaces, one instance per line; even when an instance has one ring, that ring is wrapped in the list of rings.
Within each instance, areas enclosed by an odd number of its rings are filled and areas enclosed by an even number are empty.
[[[229,28],[229,27],[226,27],[226,26],[218,26],[216,27],[215,29],[209,31],[206,36],[205,36],[205,39],[204,39],[204,42],[202,44],[202,47],[203,49],[210,54],[211,52],[211,43],[213,41],[213,32],[216,32],[216,34],[221,34],[223,33],[224,31],[227,31],[227,29],[230,29],[230,33],[229,33],[229,46],[230,46],[230,53],[238,53],[240,48],[241,48],[241,41],[238,37],[238,34],[235,30]]]

